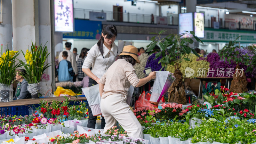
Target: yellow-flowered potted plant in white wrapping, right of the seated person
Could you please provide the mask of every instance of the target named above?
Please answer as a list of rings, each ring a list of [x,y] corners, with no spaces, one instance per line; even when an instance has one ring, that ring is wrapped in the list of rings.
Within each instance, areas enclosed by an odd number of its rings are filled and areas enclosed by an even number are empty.
[[[36,44],[30,46],[30,50],[27,49],[26,53],[21,51],[26,59],[27,64],[20,60],[24,65],[24,69],[27,75],[21,74],[28,81],[28,91],[31,93],[32,99],[39,99],[41,95],[39,82],[41,81],[42,75],[46,68],[50,67],[50,63],[46,63],[46,59],[49,56],[46,44],[38,47]]]

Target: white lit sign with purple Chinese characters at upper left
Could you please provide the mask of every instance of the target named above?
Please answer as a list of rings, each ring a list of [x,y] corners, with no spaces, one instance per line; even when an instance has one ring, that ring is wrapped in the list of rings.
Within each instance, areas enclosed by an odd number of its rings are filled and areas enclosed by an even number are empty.
[[[73,32],[73,0],[54,0],[55,31]]]

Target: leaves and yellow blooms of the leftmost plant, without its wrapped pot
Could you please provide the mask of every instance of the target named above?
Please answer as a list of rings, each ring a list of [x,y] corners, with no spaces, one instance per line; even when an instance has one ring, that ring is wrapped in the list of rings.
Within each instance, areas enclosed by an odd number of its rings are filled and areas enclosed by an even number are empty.
[[[11,85],[16,75],[16,68],[21,66],[20,62],[16,62],[17,56],[20,54],[18,51],[3,51],[3,44],[1,45],[0,55],[0,83]]]

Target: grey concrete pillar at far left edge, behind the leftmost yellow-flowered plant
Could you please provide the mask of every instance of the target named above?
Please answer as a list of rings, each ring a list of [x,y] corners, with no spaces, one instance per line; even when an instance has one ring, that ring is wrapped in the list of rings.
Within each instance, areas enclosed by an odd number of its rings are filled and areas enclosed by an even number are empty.
[[[6,44],[8,49],[12,50],[12,1],[2,0],[3,23],[0,23],[0,44],[4,45],[4,52],[6,51]],[[1,7],[0,7],[1,9]],[[1,14],[1,11],[0,11]],[[1,21],[1,15],[0,15]]]

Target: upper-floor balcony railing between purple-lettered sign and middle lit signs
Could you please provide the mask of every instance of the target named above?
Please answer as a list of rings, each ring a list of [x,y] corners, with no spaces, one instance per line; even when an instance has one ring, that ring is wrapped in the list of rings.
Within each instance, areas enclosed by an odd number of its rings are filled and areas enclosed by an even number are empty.
[[[122,22],[135,22],[135,23],[151,23],[150,14],[137,14],[137,13],[125,13],[125,12],[111,12],[100,10],[87,10],[87,9],[74,9],[74,17],[77,19],[89,19],[90,12],[105,12],[107,21],[122,21]],[[156,24],[156,15],[154,15],[154,24]],[[178,18],[172,17],[172,21],[168,21],[170,25],[177,25]]]

